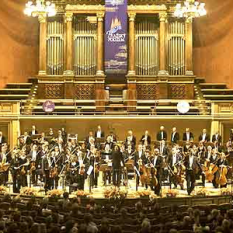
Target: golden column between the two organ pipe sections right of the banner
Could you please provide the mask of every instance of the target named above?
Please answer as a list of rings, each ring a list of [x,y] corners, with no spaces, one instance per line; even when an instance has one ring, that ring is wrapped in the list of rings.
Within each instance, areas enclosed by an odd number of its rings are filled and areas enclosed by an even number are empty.
[[[159,14],[159,75],[168,75],[166,71],[166,24],[167,13]]]

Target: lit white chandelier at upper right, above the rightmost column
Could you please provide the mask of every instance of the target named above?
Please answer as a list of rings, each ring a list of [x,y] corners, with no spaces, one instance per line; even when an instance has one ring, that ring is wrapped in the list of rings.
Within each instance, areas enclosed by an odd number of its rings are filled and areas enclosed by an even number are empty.
[[[176,5],[174,16],[179,18],[197,18],[206,15],[205,3],[199,3],[195,0],[186,0],[182,6]]]

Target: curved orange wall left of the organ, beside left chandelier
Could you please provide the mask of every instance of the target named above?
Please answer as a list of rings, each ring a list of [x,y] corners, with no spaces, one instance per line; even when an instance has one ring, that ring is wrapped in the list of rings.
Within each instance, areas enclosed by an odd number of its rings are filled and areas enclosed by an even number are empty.
[[[38,73],[39,23],[23,14],[27,0],[0,3],[0,88]]]

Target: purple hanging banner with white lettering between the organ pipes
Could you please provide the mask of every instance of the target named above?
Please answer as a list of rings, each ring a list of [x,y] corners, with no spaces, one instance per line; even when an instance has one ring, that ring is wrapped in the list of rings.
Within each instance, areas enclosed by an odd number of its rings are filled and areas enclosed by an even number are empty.
[[[105,73],[127,73],[127,0],[105,0]]]

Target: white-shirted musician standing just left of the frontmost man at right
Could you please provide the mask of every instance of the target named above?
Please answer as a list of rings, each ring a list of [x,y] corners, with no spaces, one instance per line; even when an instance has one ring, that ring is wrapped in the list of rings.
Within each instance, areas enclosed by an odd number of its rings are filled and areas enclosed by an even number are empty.
[[[168,166],[169,166],[169,169],[171,169],[169,170],[170,188],[171,188],[172,183],[174,184],[174,187],[177,188],[178,182],[177,182],[176,176],[180,172],[179,169],[181,169],[180,167],[181,160],[182,160],[182,156],[180,155],[180,153],[178,153],[176,148],[173,147],[172,153],[168,157]],[[183,189],[183,185],[181,184],[179,185],[181,186],[181,189]]]

